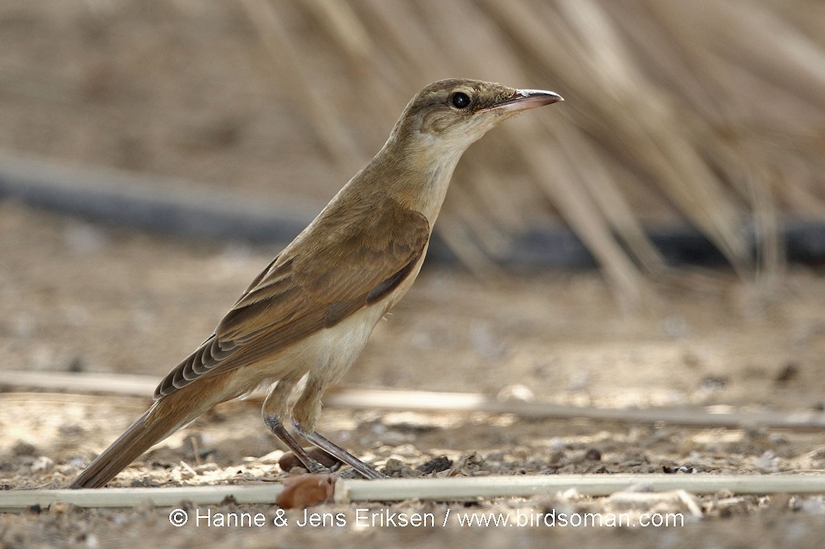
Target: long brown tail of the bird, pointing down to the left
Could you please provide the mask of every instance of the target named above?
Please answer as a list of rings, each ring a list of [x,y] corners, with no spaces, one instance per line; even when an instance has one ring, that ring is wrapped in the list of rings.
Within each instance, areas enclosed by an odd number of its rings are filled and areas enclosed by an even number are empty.
[[[200,414],[226,399],[219,397],[219,378],[193,383],[156,401],[124,434],[95,458],[69,488],[100,488],[140,454],[166,439]],[[217,391],[210,391],[217,389]],[[216,394],[218,393],[218,394]]]

